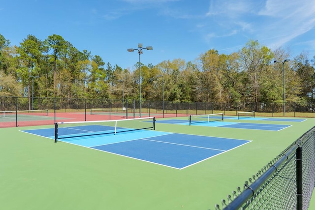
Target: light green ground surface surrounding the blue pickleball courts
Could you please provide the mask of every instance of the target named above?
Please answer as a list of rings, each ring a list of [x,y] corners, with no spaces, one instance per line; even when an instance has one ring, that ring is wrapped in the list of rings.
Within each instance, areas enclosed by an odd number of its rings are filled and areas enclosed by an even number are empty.
[[[251,141],[182,170],[20,131],[53,125],[0,128],[0,209],[214,210],[315,125],[314,118],[242,122],[292,126],[268,131],[156,123],[157,131]]]

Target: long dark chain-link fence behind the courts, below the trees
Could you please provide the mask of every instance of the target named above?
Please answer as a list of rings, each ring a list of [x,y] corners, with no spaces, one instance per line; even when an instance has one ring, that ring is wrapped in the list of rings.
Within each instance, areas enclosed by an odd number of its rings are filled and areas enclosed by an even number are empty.
[[[184,117],[197,114],[223,113],[236,116],[239,111],[255,111],[255,116],[264,117],[315,117],[315,104],[301,106],[286,103],[217,103],[217,102],[170,102],[170,101],[139,101],[82,99],[82,98],[31,98],[31,97],[0,97],[0,127],[23,125],[54,124],[56,120],[90,121],[111,120],[118,118],[118,112],[124,118],[145,117]],[[32,110],[33,109],[33,110]],[[107,118],[92,116],[92,110],[100,109]],[[38,118],[39,113],[30,112],[22,115],[19,111],[48,110],[47,118]],[[141,111],[141,113],[140,113]],[[6,112],[13,113],[5,118]],[[15,115],[14,115],[15,113]],[[37,114],[37,115],[36,115]],[[70,115],[72,114],[72,115]],[[77,114],[77,115],[75,115]],[[8,115],[7,115],[8,116]],[[28,118],[27,118],[28,117]]]

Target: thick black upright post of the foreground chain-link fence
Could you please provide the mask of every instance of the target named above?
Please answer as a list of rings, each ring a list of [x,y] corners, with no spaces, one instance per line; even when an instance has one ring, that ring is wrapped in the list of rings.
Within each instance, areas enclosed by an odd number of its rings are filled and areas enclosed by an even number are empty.
[[[296,149],[296,209],[303,209],[303,171],[302,171],[302,147]]]

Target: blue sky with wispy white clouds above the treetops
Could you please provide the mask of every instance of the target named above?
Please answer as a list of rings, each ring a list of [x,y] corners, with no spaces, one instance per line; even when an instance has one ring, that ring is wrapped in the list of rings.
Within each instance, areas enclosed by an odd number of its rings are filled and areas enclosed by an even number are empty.
[[[315,0],[2,0],[0,33],[12,45],[32,34],[58,34],[112,66],[194,61],[216,49],[240,50],[250,39],[290,57],[315,56]]]

